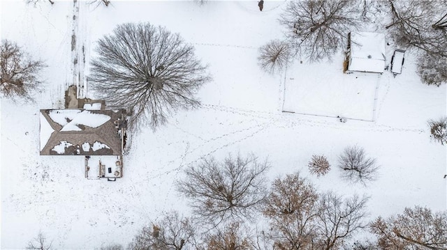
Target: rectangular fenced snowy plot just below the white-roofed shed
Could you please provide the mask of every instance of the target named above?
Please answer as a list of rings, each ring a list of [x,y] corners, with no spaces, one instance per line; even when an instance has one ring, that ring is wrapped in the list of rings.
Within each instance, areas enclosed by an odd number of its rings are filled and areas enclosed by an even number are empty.
[[[295,62],[288,67],[284,80],[283,110],[374,120],[376,88],[388,74],[344,74],[343,60],[342,54],[339,54],[332,63]]]

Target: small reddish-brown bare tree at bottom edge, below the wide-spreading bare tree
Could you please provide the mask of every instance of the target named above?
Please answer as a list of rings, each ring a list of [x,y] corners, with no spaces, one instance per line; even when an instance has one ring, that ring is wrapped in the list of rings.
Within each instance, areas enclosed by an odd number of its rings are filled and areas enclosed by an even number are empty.
[[[247,230],[237,221],[230,222],[223,229],[216,228],[214,233],[205,237],[203,247],[199,250],[251,250],[252,240]]]

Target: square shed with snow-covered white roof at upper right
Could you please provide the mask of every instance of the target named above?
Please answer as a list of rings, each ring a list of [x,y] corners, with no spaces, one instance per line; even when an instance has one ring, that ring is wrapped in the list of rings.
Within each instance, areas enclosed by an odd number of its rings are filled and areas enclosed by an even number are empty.
[[[351,32],[346,52],[346,72],[375,72],[385,70],[385,35],[374,32]]]

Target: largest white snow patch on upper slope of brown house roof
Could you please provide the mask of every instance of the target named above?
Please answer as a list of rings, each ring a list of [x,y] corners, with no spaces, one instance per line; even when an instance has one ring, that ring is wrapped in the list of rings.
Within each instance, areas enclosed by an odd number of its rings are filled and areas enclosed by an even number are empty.
[[[110,116],[78,109],[52,110],[48,115],[62,126],[61,131],[82,131],[79,125],[99,127],[110,120]]]

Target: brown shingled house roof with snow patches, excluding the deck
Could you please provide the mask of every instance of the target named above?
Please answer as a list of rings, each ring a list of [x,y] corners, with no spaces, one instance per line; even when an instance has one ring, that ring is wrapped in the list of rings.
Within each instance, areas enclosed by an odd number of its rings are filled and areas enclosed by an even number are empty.
[[[42,109],[41,155],[121,155],[122,111]]]

